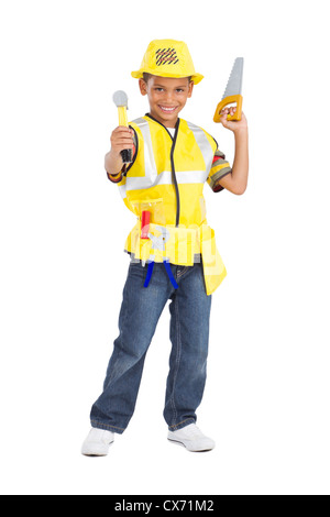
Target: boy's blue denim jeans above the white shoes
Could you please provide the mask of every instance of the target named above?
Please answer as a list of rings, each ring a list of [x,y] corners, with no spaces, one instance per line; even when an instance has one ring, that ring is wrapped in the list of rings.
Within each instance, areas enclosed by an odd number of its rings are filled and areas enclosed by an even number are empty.
[[[91,425],[121,435],[134,413],[143,365],[160,316],[170,299],[169,374],[164,418],[174,431],[197,420],[207,376],[211,296],[207,296],[202,264],[170,265],[178,283],[172,286],[165,266],[156,263],[147,288],[146,270],[131,262],[103,393],[91,409]]]

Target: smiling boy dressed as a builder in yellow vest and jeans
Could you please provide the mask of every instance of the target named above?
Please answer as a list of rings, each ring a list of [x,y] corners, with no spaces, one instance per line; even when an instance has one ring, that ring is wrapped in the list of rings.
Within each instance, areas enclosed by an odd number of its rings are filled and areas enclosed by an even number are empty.
[[[189,451],[209,451],[215,442],[196,426],[196,409],[206,383],[211,294],[226,276],[207,224],[204,184],[243,194],[248,184],[248,124],[221,122],[233,131],[232,169],[217,142],[201,128],[178,118],[194,85],[195,73],[184,42],[157,40],[144,55],[140,90],[150,113],[111,135],[106,170],[119,185],[127,207],[138,216],[125,251],[131,264],[103,393],[91,409],[92,429],[82,454],[107,455],[116,433],[122,433],[135,408],[143,365],[158,318],[170,300],[169,374],[164,418],[168,440]],[[133,150],[133,163],[123,165],[121,151]]]

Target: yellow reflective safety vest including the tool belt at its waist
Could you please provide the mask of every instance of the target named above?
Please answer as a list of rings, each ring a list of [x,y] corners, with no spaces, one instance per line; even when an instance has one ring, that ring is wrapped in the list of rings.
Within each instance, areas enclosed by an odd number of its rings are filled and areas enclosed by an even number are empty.
[[[130,123],[138,143],[134,162],[118,184],[138,222],[125,251],[143,262],[191,266],[202,258],[206,292],[211,295],[227,275],[206,219],[204,185],[217,142],[201,128],[178,119],[174,138],[151,116]],[[142,239],[143,212],[150,213]]]

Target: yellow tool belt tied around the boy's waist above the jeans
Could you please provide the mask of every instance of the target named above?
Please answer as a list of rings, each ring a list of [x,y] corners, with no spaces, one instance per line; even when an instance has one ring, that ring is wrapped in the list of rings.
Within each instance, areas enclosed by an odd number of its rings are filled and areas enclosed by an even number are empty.
[[[227,275],[217,250],[215,231],[208,224],[196,228],[176,228],[150,223],[148,239],[141,239],[141,220],[125,242],[125,251],[142,262],[163,262],[193,266],[201,256],[207,295],[219,287]]]

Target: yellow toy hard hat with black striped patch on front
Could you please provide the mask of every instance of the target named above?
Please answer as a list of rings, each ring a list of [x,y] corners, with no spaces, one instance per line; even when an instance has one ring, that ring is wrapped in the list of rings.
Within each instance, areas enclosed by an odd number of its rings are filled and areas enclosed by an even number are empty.
[[[132,72],[135,79],[143,73],[160,77],[190,77],[197,85],[204,76],[196,74],[194,63],[185,42],[175,40],[154,40],[148,44],[140,70]]]

